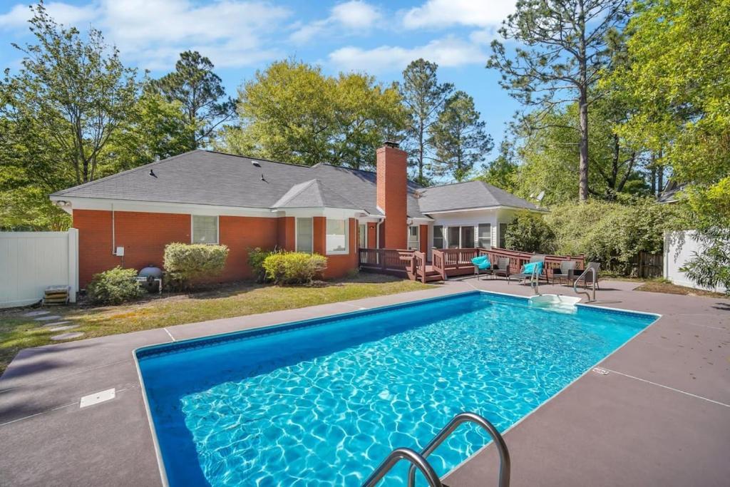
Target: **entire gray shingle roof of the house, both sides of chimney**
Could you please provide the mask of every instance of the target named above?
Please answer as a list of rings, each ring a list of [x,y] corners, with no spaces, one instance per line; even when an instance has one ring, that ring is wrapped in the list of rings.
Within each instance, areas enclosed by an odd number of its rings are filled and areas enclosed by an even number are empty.
[[[534,209],[533,204],[517,196],[477,181],[431,188],[412,182],[408,185],[410,218],[428,218],[428,212],[471,207]],[[415,191],[422,196],[414,197]],[[376,195],[376,177],[371,171],[328,164],[299,166],[193,150],[51,196],[253,208],[326,206],[382,215],[377,209]]]

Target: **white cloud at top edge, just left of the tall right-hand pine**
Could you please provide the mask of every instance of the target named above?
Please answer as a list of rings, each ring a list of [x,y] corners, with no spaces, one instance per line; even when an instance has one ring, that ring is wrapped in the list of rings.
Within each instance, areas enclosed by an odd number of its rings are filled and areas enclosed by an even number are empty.
[[[514,10],[515,0],[427,0],[406,12],[403,25],[406,28],[496,26]]]

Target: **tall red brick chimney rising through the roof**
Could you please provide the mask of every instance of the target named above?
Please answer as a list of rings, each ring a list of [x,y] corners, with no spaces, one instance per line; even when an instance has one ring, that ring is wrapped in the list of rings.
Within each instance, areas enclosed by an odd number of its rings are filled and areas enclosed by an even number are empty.
[[[380,225],[380,246],[407,248],[407,153],[396,142],[377,150],[377,206],[385,213]]]

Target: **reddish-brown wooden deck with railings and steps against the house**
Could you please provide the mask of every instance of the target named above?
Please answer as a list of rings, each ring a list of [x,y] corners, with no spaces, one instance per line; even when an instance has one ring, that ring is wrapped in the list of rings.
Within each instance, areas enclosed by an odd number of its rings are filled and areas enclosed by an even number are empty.
[[[530,261],[534,254],[507,250],[504,248],[450,248],[432,249],[431,261],[426,261],[426,254],[418,250],[361,248],[358,250],[360,269],[366,272],[380,272],[382,274],[409,277],[411,280],[420,280],[422,283],[447,280],[449,277],[469,275],[474,273],[472,258],[489,256],[489,260],[496,264],[500,258],[507,258],[507,274],[520,271],[523,264]],[[553,277],[553,269],[560,267],[563,261],[575,261],[575,269],[583,269],[583,256],[545,256],[545,279]]]

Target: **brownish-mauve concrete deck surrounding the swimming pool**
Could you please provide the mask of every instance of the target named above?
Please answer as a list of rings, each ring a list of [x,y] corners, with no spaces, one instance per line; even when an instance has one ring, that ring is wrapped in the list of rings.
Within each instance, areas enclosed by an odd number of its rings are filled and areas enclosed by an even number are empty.
[[[512,426],[512,486],[726,486],[730,478],[730,301],[633,291],[602,281],[598,305],[662,318]],[[504,280],[170,326],[21,351],[0,378],[0,485],[159,486],[131,350],[480,288],[529,295]],[[543,293],[573,295],[567,286]],[[115,399],[80,407],[115,388]],[[407,446],[407,445],[404,445]],[[410,446],[410,445],[408,445]],[[447,475],[496,485],[488,447]]]

